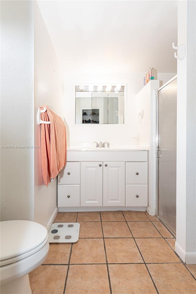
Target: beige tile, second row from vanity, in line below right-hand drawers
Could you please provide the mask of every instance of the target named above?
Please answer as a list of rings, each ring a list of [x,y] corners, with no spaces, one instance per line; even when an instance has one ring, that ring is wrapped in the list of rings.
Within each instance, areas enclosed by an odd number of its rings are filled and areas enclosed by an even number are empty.
[[[157,229],[149,221],[127,222],[134,238],[162,238]]]

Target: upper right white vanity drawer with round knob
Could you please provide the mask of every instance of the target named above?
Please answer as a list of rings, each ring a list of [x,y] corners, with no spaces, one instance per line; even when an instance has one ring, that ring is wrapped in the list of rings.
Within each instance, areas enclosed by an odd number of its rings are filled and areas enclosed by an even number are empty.
[[[126,162],[126,184],[148,184],[148,162]]]

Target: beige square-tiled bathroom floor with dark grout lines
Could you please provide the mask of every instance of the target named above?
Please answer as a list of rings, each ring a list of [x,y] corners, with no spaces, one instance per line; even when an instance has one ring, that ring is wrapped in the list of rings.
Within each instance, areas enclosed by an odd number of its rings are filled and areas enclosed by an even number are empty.
[[[52,243],[29,274],[33,294],[194,294],[196,265],[185,266],[175,239],[145,212],[58,213],[79,222],[77,243]]]

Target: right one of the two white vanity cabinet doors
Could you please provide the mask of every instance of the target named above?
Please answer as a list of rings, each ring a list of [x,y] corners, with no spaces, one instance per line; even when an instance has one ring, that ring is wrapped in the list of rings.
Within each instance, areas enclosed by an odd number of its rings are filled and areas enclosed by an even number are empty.
[[[103,163],[103,206],[125,206],[125,162]]]

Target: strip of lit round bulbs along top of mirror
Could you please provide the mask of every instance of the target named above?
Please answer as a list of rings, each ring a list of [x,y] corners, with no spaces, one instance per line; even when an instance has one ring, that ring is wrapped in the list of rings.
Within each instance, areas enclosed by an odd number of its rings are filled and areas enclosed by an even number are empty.
[[[110,88],[109,88],[110,87]],[[124,92],[122,85],[79,85],[75,86],[76,92]]]

